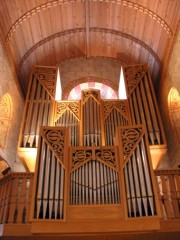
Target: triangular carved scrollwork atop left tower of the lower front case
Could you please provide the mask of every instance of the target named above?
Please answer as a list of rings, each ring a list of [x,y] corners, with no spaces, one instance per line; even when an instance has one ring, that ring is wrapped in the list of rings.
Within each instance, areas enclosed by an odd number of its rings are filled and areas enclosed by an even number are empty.
[[[54,154],[61,162],[64,159],[64,147],[65,147],[65,130],[62,129],[48,129],[43,127],[41,129],[41,135],[48,143]]]

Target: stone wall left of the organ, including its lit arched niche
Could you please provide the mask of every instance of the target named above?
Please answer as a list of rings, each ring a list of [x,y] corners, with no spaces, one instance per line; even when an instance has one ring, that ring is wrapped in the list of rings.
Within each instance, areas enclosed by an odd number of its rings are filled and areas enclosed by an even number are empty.
[[[17,145],[24,100],[16,85],[16,76],[0,38],[0,157],[12,170],[22,171]]]

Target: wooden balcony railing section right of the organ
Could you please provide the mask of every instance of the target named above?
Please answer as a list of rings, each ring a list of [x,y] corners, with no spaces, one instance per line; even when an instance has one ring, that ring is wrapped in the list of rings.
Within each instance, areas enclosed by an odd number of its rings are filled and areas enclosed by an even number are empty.
[[[180,218],[180,169],[155,170],[162,218]]]

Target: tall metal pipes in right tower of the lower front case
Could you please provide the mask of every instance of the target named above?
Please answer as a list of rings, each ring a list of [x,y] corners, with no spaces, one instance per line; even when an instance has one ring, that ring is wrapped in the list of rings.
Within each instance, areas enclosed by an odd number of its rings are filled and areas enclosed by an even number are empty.
[[[144,136],[124,166],[129,217],[153,216],[156,213],[154,192]]]

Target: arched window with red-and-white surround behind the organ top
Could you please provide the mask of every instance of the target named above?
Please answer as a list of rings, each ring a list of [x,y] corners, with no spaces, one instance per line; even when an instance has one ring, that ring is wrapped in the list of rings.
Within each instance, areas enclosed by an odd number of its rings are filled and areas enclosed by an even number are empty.
[[[79,100],[81,98],[81,91],[90,88],[100,90],[102,99],[118,98],[117,84],[107,79],[90,76],[70,82],[63,91],[63,99]]]

